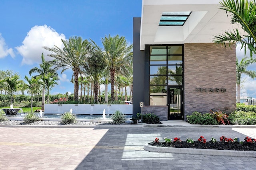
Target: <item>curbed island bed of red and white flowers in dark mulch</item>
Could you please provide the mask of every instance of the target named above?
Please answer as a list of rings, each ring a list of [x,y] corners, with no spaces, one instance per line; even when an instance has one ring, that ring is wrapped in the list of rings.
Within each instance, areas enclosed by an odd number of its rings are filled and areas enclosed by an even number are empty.
[[[238,138],[231,139],[222,136],[219,142],[214,138],[207,142],[202,136],[197,141],[191,138],[187,138],[186,141],[181,141],[179,138],[174,139],[164,138],[163,142],[158,139],[148,145],[155,147],[256,151],[256,140],[249,137],[246,137],[244,141],[239,141]]]

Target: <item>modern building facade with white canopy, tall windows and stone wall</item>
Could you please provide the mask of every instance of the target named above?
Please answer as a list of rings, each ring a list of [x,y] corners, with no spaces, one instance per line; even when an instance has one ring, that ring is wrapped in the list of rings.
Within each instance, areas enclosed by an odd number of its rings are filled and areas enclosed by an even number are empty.
[[[236,46],[213,43],[233,28],[218,0],[143,0],[133,27],[133,114],[186,120],[236,109]],[[140,107],[143,102],[143,107]]]

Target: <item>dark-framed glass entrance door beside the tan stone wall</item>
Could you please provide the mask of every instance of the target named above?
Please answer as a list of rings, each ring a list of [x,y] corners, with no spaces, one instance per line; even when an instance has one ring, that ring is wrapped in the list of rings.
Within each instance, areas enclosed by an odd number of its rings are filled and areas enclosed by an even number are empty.
[[[184,120],[182,86],[168,86],[168,120]]]

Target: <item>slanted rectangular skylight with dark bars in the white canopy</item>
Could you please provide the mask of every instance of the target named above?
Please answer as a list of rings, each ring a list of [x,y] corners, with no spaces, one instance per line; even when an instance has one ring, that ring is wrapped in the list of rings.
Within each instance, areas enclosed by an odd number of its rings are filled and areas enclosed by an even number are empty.
[[[191,11],[186,12],[163,12],[159,26],[183,26]]]

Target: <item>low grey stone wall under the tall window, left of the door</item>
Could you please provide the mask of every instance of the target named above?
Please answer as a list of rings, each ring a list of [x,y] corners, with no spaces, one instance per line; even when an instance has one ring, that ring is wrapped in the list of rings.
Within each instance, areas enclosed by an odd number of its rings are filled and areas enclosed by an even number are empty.
[[[146,113],[154,113],[154,115],[158,115],[160,121],[168,120],[168,106],[143,106],[142,114]]]

